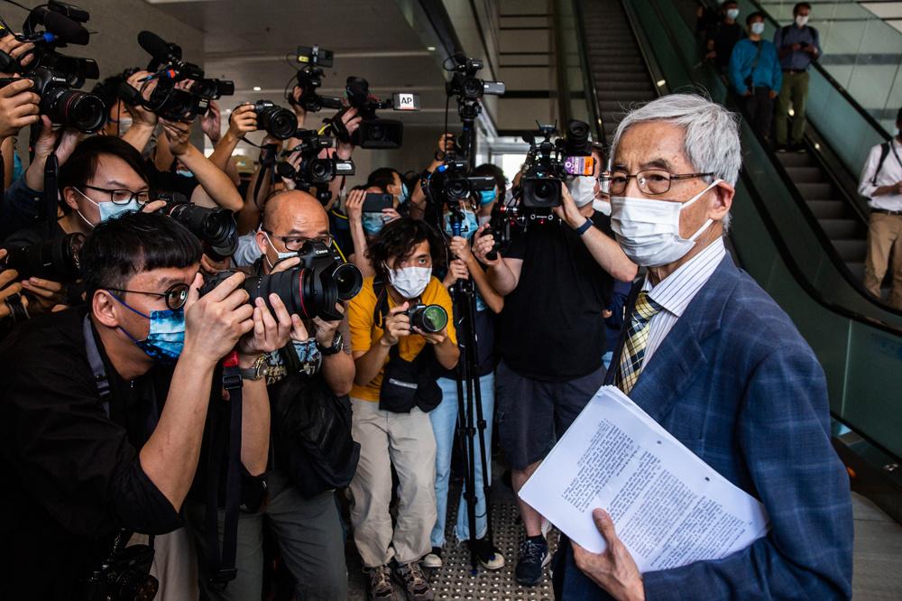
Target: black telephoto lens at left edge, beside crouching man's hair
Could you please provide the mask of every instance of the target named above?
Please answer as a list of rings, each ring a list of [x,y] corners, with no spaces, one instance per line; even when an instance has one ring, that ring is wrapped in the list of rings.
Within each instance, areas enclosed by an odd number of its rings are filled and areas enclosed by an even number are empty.
[[[20,278],[43,278],[52,282],[72,283],[81,277],[80,253],[83,234],[69,234],[36,245],[6,248],[4,269],[14,269]]]

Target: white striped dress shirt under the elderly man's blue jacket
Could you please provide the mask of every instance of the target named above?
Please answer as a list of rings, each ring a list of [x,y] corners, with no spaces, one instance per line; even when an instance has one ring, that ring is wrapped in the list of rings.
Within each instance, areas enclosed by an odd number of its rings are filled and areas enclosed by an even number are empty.
[[[717,265],[721,264],[724,254],[726,248],[723,246],[723,238],[717,238],[701,253],[658,282],[657,286],[652,285],[648,275],[645,276],[642,290],[648,291],[649,298],[663,307],[663,310],[649,322],[649,342],[645,347],[642,369],[649,365],[649,360],[661,345],[661,341],[676,325],[676,320],[683,315],[683,311],[717,269]]]

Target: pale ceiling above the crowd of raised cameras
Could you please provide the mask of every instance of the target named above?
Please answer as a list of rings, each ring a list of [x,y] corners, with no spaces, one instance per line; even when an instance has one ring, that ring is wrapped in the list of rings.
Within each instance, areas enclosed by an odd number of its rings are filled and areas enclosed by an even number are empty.
[[[424,42],[431,32],[415,32],[394,0],[147,2],[204,32],[207,77],[235,81],[235,96],[221,101],[224,108],[260,98],[287,106],[283,90],[297,69],[286,56],[292,55],[293,60],[299,45],[318,44],[335,51],[335,66],[325,69],[321,93],[340,96],[347,76],[364,77],[379,97],[391,97],[393,91],[420,93],[421,112],[385,111],[384,117],[400,118],[413,126],[444,121],[441,57],[428,50],[431,42]],[[254,87],[262,89],[255,91]],[[323,111],[316,120],[328,114]]]

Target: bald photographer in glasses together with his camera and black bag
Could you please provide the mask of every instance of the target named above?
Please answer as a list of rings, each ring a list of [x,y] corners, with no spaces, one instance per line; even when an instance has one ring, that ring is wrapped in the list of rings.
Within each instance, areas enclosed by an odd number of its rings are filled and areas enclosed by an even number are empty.
[[[235,580],[225,588],[211,587],[200,578],[209,599],[259,599],[263,587],[263,528],[278,541],[281,559],[294,577],[299,599],[331,601],[347,596],[345,534],[336,504],[335,490],[350,482],[357,459],[351,439],[351,407],[347,393],[354,382],[350,334],[344,308],[345,292],[360,290],[361,276],[353,265],[342,265],[349,274],[349,290],[333,278],[300,280],[304,257],[318,254],[320,262],[335,261],[329,219],[322,204],[307,192],[278,192],[266,201],[261,228],[256,234],[262,256],[253,264],[259,277],[257,290],[269,290],[286,299],[300,282],[299,313],[292,315],[290,341],[266,356],[260,370],[269,384],[272,409],[272,463],[266,473],[267,503],[258,512],[238,518]],[[335,266],[339,263],[332,263]],[[325,273],[320,271],[318,273]],[[354,282],[354,273],[356,279]],[[319,285],[319,290],[312,286]],[[330,297],[334,285],[336,297]],[[320,300],[329,298],[326,306]],[[306,311],[307,314],[304,314]],[[189,506],[191,530],[198,547],[206,546],[202,505]],[[220,524],[224,514],[220,511]],[[204,576],[207,553],[200,555]]]

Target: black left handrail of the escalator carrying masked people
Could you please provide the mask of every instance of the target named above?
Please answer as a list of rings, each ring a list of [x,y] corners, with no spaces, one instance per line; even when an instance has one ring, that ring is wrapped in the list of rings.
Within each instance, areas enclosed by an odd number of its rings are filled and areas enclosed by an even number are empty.
[[[667,18],[664,16],[664,14],[661,14],[660,9],[658,8],[657,1],[651,0],[650,5],[653,7],[655,13],[658,14],[658,20],[664,24],[664,28],[667,32],[667,37],[672,42],[673,46],[675,48],[677,48],[678,44],[676,43],[675,32],[671,29],[671,26],[667,22]],[[693,66],[689,64],[689,62],[686,60],[686,56],[683,55],[682,53],[677,52],[677,56],[679,57],[680,62],[683,64],[683,68],[686,70],[686,74],[688,74],[691,77],[692,72],[693,72]],[[711,69],[711,67],[709,66],[706,69]],[[713,75],[713,80],[719,80],[723,84],[723,80],[721,80],[716,74],[712,74],[712,75]],[[730,88],[729,86],[724,86],[724,88],[726,89],[727,97],[732,101],[732,103],[731,103],[732,109],[736,110],[736,108],[737,108],[736,101],[735,101],[736,96],[735,96],[734,92],[732,91],[732,88]],[[821,225],[817,222],[817,217],[815,217],[815,214],[811,211],[811,208],[808,207],[807,203],[805,202],[805,199],[802,198],[801,192],[799,192],[798,188],[796,187],[796,183],[792,180],[791,177],[789,177],[789,174],[786,171],[786,168],[783,166],[783,163],[779,162],[779,160],[777,158],[777,153],[775,153],[770,148],[769,144],[765,143],[762,140],[762,138],[759,136],[758,132],[755,132],[754,130],[752,130],[752,134],[754,134],[755,140],[759,143],[759,146],[762,148],[764,153],[767,155],[769,162],[773,166],[774,171],[777,172],[778,177],[783,182],[784,186],[787,188],[789,197],[791,199],[793,199],[793,202],[796,203],[796,208],[799,209],[799,212],[801,213],[802,217],[805,219],[805,223],[814,233],[815,238],[817,238],[818,244],[821,245],[821,248],[824,250],[827,258],[833,264],[833,267],[835,267],[837,269],[837,271],[842,275],[842,278],[851,285],[852,290],[857,291],[865,301],[867,301],[871,305],[874,305],[877,309],[887,311],[888,313],[891,313],[893,315],[902,315],[902,310],[898,310],[894,307],[890,307],[888,304],[886,304],[882,301],[879,301],[878,299],[875,299],[873,297],[873,295],[871,295],[864,288],[864,284],[862,282],[860,282],[857,278],[855,278],[855,276],[849,270],[849,267],[845,264],[844,261],[842,261],[842,257],[840,257],[839,253],[836,251],[836,248],[833,246],[833,243],[830,241],[830,238],[827,237],[826,233],[824,232],[824,228],[821,227]],[[844,190],[842,190],[842,192],[844,194]],[[851,311],[851,312],[858,314],[855,311]],[[875,321],[875,319],[868,318],[863,315],[860,315],[860,317],[862,319],[868,320],[869,322]],[[879,321],[879,323],[884,323],[884,322]],[[890,328],[890,331],[897,331],[898,333],[902,334],[902,328],[897,328],[895,326],[892,326],[891,324],[885,324],[885,325],[887,326],[887,328]]]

